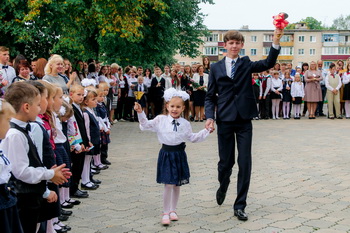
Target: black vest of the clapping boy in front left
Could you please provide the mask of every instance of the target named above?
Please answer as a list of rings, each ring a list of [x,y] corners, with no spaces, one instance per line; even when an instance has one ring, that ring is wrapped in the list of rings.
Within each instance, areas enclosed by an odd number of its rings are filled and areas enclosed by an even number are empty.
[[[17,129],[21,133],[24,134],[24,136],[28,140],[29,145],[29,151],[28,151],[28,159],[29,159],[29,167],[44,167],[44,164],[41,162],[38,151],[32,141],[32,139],[29,137],[28,133],[25,129],[19,127],[13,122],[10,122],[11,128]],[[14,176],[12,176],[12,179],[14,179],[15,183],[15,191],[16,193],[37,193],[37,194],[44,194],[46,190],[46,180],[42,180],[38,184],[28,184],[21,180],[16,179]]]

